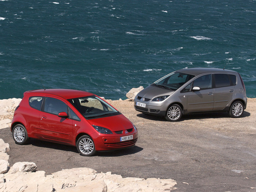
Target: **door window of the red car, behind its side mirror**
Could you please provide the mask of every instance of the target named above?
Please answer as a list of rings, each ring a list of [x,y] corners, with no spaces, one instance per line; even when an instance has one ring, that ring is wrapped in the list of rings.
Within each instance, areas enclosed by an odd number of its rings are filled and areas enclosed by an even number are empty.
[[[58,115],[60,112],[66,112],[68,114],[68,107],[63,101],[52,97],[46,97],[44,111],[55,115]]]

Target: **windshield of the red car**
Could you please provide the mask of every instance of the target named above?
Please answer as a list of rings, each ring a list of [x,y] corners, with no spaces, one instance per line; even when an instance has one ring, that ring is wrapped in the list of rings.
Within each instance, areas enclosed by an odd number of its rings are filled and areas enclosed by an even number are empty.
[[[68,101],[85,117],[85,119],[95,119],[120,114],[120,112],[110,106],[107,102],[96,96],[68,99]]]

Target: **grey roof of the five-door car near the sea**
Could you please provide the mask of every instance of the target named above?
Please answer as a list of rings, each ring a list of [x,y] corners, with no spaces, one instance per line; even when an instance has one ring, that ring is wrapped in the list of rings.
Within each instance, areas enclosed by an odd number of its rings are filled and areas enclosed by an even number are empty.
[[[235,72],[233,70],[217,69],[217,68],[186,68],[177,70],[177,72],[186,73],[190,75],[199,75],[207,72]]]

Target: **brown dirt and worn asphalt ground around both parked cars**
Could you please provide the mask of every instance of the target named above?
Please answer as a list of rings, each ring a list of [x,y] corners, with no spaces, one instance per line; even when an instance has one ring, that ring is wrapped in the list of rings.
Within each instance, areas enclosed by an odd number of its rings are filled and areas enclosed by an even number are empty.
[[[248,98],[241,118],[221,112],[186,115],[180,122],[142,114],[133,101],[107,101],[137,127],[135,147],[83,157],[75,147],[39,140],[16,145],[6,128],[0,138],[10,145],[10,166],[29,161],[46,174],[89,167],[123,177],[171,178],[175,192],[256,192],[256,98]]]

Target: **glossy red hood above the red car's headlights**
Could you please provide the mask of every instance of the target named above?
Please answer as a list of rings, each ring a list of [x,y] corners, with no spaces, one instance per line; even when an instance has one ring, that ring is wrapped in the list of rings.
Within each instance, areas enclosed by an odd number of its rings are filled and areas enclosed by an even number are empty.
[[[89,119],[87,121],[91,123],[91,125],[105,127],[112,132],[133,128],[132,122],[130,122],[123,114],[98,119]]]

